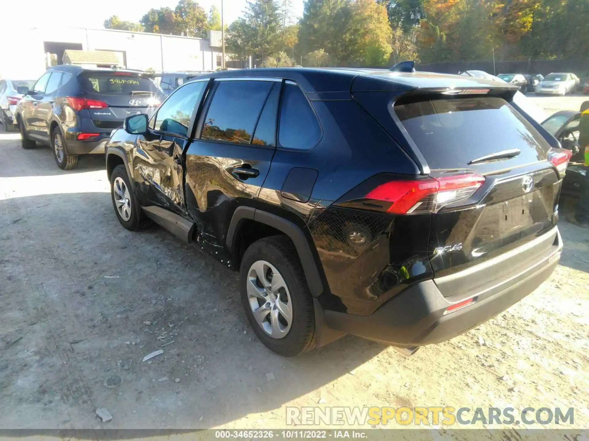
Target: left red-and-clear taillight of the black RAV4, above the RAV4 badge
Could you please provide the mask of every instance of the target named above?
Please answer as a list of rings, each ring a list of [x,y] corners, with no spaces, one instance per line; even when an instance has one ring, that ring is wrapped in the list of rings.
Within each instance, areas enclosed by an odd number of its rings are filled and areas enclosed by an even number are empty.
[[[391,202],[386,210],[389,213],[435,213],[446,205],[468,199],[484,182],[485,177],[474,172],[391,181],[379,185],[365,198]]]

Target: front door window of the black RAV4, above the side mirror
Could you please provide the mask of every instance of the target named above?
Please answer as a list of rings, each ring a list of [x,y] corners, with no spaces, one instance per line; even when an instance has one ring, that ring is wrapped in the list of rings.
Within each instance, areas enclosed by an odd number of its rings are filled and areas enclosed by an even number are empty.
[[[176,89],[155,115],[154,129],[188,136],[194,106],[200,103],[207,81],[198,81]]]

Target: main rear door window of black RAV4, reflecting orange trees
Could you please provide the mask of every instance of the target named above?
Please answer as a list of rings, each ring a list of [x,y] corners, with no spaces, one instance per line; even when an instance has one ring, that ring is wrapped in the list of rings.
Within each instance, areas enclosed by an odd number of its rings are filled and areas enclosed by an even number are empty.
[[[249,144],[272,81],[219,81],[201,139]]]

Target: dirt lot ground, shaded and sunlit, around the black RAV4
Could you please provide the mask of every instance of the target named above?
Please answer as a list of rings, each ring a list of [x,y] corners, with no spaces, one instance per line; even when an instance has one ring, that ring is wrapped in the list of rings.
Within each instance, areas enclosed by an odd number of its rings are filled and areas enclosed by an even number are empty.
[[[0,429],[280,428],[314,405],[574,407],[589,427],[589,230],[562,217],[550,280],[479,328],[411,358],[347,336],[284,359],[249,329],[236,274],[119,225],[103,157],[65,172],[0,133]]]

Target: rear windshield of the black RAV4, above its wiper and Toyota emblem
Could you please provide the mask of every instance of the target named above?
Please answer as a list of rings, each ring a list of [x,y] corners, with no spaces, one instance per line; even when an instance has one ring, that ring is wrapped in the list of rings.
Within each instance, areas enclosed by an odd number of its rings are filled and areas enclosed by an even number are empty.
[[[491,96],[399,103],[394,111],[432,169],[471,168],[481,156],[517,148],[510,163],[546,159],[547,141],[507,101]]]

